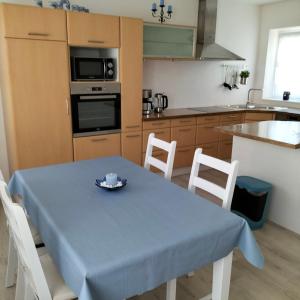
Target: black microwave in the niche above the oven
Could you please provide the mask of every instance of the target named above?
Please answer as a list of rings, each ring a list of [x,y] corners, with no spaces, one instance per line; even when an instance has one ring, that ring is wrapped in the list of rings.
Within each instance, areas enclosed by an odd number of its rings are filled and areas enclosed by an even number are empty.
[[[116,80],[113,58],[71,57],[72,81]]]

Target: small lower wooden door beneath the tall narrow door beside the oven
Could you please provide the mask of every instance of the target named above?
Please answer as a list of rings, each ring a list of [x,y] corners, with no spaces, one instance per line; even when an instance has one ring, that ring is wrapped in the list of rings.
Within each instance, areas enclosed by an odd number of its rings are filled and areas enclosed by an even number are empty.
[[[142,132],[122,133],[122,156],[137,165],[142,162]]]

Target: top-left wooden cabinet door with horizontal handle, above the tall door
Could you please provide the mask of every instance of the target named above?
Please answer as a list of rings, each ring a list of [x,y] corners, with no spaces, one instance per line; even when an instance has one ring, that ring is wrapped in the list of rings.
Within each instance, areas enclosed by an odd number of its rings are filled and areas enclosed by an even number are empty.
[[[2,4],[4,36],[38,40],[66,41],[64,10],[26,5]],[[0,16],[0,19],[1,16]]]

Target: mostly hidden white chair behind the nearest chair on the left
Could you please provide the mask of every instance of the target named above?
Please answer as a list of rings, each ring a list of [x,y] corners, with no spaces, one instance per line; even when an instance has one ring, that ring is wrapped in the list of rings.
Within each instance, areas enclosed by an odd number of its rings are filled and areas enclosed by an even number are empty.
[[[4,181],[4,177],[3,177],[1,170],[0,170],[0,183],[5,186],[5,189],[7,189],[7,185],[6,185],[6,182]],[[3,202],[4,200],[3,200],[2,196],[1,196],[1,199],[2,199],[2,203],[3,203],[4,211],[6,213],[7,205],[5,205],[5,203]],[[8,197],[6,200],[13,203],[11,197]],[[31,224],[30,224],[30,230],[31,230],[31,234],[34,238],[35,245],[39,246],[39,247],[43,246],[43,242],[42,242],[37,230]],[[9,226],[8,226],[8,234],[9,234],[8,251],[7,251],[8,255],[7,255],[7,267],[6,267],[6,275],[5,275],[5,287],[7,287],[7,288],[13,286],[16,283],[16,273],[17,273],[17,266],[18,266],[18,257],[16,255],[15,246],[13,244],[13,239],[11,237],[11,229]]]

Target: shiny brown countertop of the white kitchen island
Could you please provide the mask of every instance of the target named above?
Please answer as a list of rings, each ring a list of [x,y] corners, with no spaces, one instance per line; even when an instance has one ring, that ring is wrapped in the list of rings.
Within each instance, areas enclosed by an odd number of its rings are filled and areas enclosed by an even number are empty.
[[[282,147],[300,148],[300,122],[263,121],[218,127],[222,133],[244,137]]]

